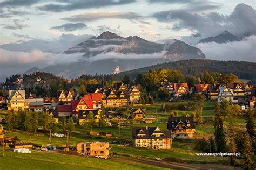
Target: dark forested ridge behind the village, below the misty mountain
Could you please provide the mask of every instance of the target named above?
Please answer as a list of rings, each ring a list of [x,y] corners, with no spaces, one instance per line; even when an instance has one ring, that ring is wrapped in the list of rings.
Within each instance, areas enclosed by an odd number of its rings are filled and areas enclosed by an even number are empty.
[[[178,69],[184,75],[198,76],[204,74],[206,71],[209,73],[218,72],[222,74],[233,73],[239,79],[248,79],[256,82],[256,63],[246,61],[217,61],[217,60],[180,60],[174,62],[166,62],[158,65],[148,66],[144,68],[134,69],[127,72],[122,72],[116,75],[117,77],[124,77],[128,75],[134,79],[139,73],[146,73],[149,69],[169,68]]]

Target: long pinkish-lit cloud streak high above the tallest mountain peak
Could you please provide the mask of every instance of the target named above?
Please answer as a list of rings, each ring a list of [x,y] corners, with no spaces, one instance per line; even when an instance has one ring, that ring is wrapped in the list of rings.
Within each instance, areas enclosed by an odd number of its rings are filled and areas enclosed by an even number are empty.
[[[99,19],[106,18],[119,18],[119,19],[129,19],[129,20],[143,20],[144,17],[137,15],[133,12],[118,12],[118,11],[92,11],[86,12],[79,15],[73,15],[71,17],[62,18],[63,20],[68,20],[70,22],[87,22],[95,21]]]

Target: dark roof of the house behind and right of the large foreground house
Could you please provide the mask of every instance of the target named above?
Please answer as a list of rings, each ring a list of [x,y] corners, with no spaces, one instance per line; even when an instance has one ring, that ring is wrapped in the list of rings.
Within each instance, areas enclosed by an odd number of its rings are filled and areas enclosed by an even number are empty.
[[[194,118],[192,116],[190,117],[169,117],[168,118],[168,123],[167,123],[167,129],[169,130],[174,130],[174,129],[180,129],[177,127],[179,122],[182,122],[185,127],[183,126],[182,129],[194,129]],[[190,122],[190,127],[187,127],[187,123]],[[174,125],[174,126],[172,126]]]

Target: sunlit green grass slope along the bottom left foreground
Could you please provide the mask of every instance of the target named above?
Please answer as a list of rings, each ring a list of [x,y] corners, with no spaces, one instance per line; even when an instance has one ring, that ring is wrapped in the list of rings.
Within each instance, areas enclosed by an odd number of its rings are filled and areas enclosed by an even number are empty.
[[[11,159],[10,159],[11,158]],[[76,155],[32,152],[21,154],[6,151],[0,157],[0,169],[160,169],[157,166],[117,162],[111,159],[87,158]]]

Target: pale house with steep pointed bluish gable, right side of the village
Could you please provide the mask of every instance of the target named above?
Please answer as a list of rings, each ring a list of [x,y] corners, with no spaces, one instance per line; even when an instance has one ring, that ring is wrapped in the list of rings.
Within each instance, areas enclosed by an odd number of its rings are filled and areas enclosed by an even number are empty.
[[[234,95],[233,91],[228,86],[219,87],[218,102],[221,102],[225,98],[231,100],[232,103],[237,103],[238,98]]]

